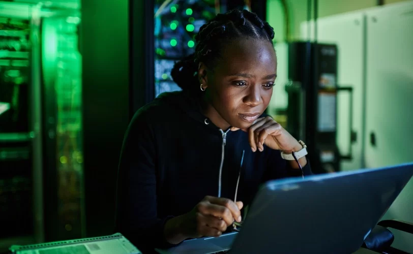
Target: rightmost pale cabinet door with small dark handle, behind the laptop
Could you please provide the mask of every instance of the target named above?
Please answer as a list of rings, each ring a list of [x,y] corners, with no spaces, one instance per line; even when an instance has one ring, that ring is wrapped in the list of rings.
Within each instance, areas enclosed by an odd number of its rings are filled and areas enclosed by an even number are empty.
[[[368,168],[413,161],[413,2],[367,11],[365,160]],[[413,221],[413,179],[385,218]],[[395,232],[409,253],[413,237]]]

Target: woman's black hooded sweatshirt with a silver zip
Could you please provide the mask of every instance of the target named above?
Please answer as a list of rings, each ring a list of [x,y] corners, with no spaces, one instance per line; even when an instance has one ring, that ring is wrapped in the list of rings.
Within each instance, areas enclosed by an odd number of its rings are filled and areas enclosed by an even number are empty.
[[[117,179],[116,231],[142,251],[170,246],[166,221],[189,212],[205,196],[251,203],[265,181],[301,175],[280,151],[252,152],[248,134],[220,130],[187,91],[161,94],[139,109],[126,132]],[[303,167],[311,174],[309,163]],[[220,193],[220,195],[219,195]],[[145,252],[144,252],[145,253]]]

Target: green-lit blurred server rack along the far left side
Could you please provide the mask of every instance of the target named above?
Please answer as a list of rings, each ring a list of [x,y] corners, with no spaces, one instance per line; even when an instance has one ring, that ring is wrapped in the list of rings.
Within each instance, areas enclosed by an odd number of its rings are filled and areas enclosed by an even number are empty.
[[[84,234],[79,22],[75,5],[0,3],[0,250]]]

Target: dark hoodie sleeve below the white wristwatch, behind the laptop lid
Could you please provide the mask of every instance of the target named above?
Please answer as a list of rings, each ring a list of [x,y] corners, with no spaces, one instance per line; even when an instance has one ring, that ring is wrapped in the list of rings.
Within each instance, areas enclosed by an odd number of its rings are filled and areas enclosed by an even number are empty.
[[[288,161],[281,157],[280,151],[272,149],[269,150],[271,151],[267,154],[267,167],[265,168],[263,179],[261,181],[262,183],[269,180],[302,175],[300,169],[291,168]],[[313,174],[308,157],[307,164],[303,167],[303,174],[304,176]]]

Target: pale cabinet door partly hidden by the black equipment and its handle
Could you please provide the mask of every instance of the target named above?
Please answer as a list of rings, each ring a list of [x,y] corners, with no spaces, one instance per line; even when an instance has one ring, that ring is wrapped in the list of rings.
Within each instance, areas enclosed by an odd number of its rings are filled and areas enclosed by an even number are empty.
[[[336,44],[338,49],[337,84],[353,88],[352,130],[357,133],[357,141],[350,143],[349,117],[351,116],[348,92],[339,92],[337,98],[337,145],[343,155],[352,148],[352,160],[341,161],[341,170],[360,169],[363,152],[361,138],[363,125],[363,33],[364,14],[346,13],[320,18],[317,21],[318,43]],[[301,39],[308,39],[307,22],[301,24]],[[314,23],[310,22],[310,38],[313,40]]]

